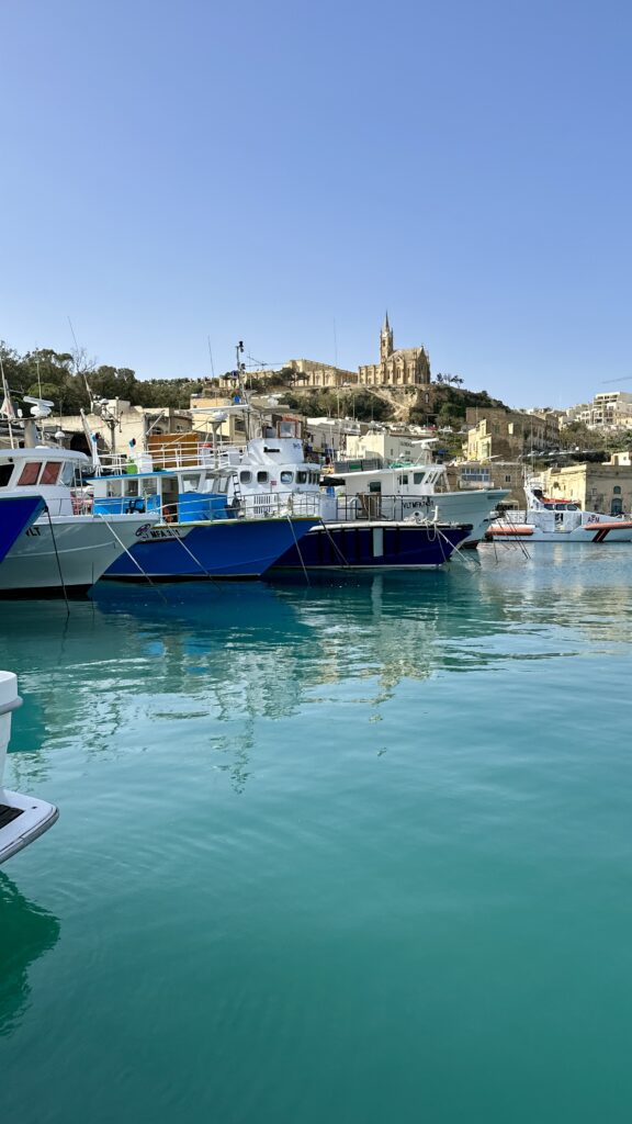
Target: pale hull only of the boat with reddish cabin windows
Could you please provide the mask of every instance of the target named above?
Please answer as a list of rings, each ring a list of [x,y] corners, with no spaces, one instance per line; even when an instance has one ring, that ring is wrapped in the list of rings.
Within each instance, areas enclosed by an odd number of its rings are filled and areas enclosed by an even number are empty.
[[[20,535],[0,565],[0,592],[89,589],[151,522],[146,515],[110,516],[107,522],[91,515],[53,516],[51,528],[44,516]]]

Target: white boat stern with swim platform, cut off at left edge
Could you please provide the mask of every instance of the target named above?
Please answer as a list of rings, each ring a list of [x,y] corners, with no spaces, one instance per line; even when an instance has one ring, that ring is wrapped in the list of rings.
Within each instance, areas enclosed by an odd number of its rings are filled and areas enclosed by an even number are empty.
[[[16,676],[12,671],[0,671],[0,863],[48,831],[58,816],[53,804],[2,786],[11,714],[19,706],[21,698]]]

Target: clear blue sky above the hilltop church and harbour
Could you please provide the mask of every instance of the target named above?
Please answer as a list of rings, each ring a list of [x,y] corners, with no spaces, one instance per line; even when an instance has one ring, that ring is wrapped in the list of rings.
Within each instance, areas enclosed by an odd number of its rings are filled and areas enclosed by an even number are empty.
[[[612,0],[3,0],[0,337],[355,369],[388,307],[434,373],[592,397],[632,375],[631,31]]]

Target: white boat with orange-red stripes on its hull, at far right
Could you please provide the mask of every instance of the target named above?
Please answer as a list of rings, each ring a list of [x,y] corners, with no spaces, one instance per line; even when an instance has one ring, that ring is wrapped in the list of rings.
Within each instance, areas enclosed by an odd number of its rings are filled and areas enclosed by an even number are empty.
[[[526,508],[506,511],[486,532],[491,541],[529,541],[530,543],[630,543],[632,519],[625,516],[584,511],[568,499],[544,495],[539,481],[525,484]]]

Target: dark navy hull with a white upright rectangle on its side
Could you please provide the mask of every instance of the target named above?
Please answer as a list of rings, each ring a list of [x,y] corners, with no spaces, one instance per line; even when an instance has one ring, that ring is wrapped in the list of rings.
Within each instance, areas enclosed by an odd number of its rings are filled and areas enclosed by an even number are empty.
[[[315,527],[273,570],[408,570],[443,565],[471,532],[464,526],[352,523]]]

